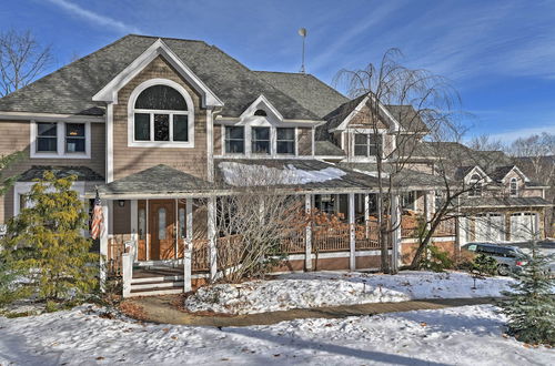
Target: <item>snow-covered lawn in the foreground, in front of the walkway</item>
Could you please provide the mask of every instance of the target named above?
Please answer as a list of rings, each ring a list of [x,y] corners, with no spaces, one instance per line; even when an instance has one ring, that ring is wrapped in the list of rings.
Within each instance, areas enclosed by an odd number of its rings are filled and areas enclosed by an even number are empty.
[[[0,317],[0,365],[553,365],[503,337],[491,305],[270,326],[192,327],[73,311]]]

